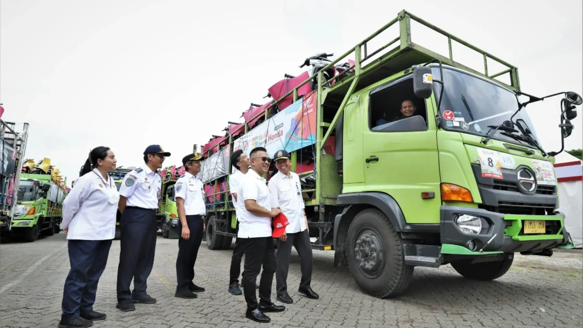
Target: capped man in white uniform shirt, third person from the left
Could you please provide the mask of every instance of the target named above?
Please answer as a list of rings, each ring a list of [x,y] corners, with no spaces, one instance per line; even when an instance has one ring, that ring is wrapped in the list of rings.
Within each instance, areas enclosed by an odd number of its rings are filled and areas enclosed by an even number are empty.
[[[180,298],[196,298],[195,292],[203,292],[205,288],[192,282],[194,279],[194,264],[198,249],[205,231],[206,215],[205,192],[202,181],[198,178],[201,172],[201,154],[191,153],[182,158],[186,173],[176,181],[176,208],[178,211],[178,256],[176,259],[176,278],[178,284],[174,296]]]

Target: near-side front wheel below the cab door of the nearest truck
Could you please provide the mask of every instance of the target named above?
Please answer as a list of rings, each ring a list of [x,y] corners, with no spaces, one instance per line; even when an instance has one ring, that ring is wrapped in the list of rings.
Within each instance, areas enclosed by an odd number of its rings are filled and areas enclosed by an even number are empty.
[[[381,211],[368,208],[357,214],[346,245],[350,274],[362,292],[391,298],[409,287],[414,267],[405,264],[401,236]]]

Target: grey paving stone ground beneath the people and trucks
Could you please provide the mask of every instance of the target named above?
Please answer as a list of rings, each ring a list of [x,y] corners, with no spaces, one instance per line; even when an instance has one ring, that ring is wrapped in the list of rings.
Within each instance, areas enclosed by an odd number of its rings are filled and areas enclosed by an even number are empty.
[[[178,242],[159,235],[148,292],[158,302],[115,309],[120,242],[111,246],[99,282],[95,309],[107,319],[94,327],[581,327],[583,278],[581,251],[553,257],[515,256],[510,271],[496,281],[471,281],[451,266],[415,268],[406,295],[377,299],[359,291],[347,268],[333,267],[333,253],[314,251],[312,288],[317,301],[300,296],[299,257],[291,257],[288,285],[294,303],[269,313],[271,323],[245,318],[243,295],[227,292],[231,250],[211,251],[203,242],[195,283],[206,288],[193,300],[174,297]],[[57,327],[63,285],[69,270],[65,233],[34,243],[0,245],[0,327]],[[275,290],[275,279],[273,281]],[[275,295],[272,294],[275,301]]]

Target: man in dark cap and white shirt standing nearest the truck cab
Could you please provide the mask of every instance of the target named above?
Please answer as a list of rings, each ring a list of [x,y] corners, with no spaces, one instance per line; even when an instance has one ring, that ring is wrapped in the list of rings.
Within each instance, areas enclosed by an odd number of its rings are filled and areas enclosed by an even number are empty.
[[[301,280],[298,292],[311,299],[319,296],[310,287],[312,280],[312,245],[305,216],[304,200],[301,197],[300,177],[291,172],[290,155],[285,150],[275,153],[275,167],[279,170],[269,179],[272,207],[280,207],[290,222],[286,233],[278,239],[277,266],[275,271],[276,298],[283,303],[293,303],[287,294],[287,271],[290,265],[291,246],[300,256]]]

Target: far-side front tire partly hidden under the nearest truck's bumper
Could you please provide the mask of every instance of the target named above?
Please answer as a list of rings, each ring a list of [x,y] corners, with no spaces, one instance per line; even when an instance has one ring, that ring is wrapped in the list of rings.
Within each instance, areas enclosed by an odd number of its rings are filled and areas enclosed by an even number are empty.
[[[514,261],[514,253],[505,253],[500,261],[469,263],[468,260],[454,261],[451,266],[463,277],[490,281],[502,277],[507,273]]]

